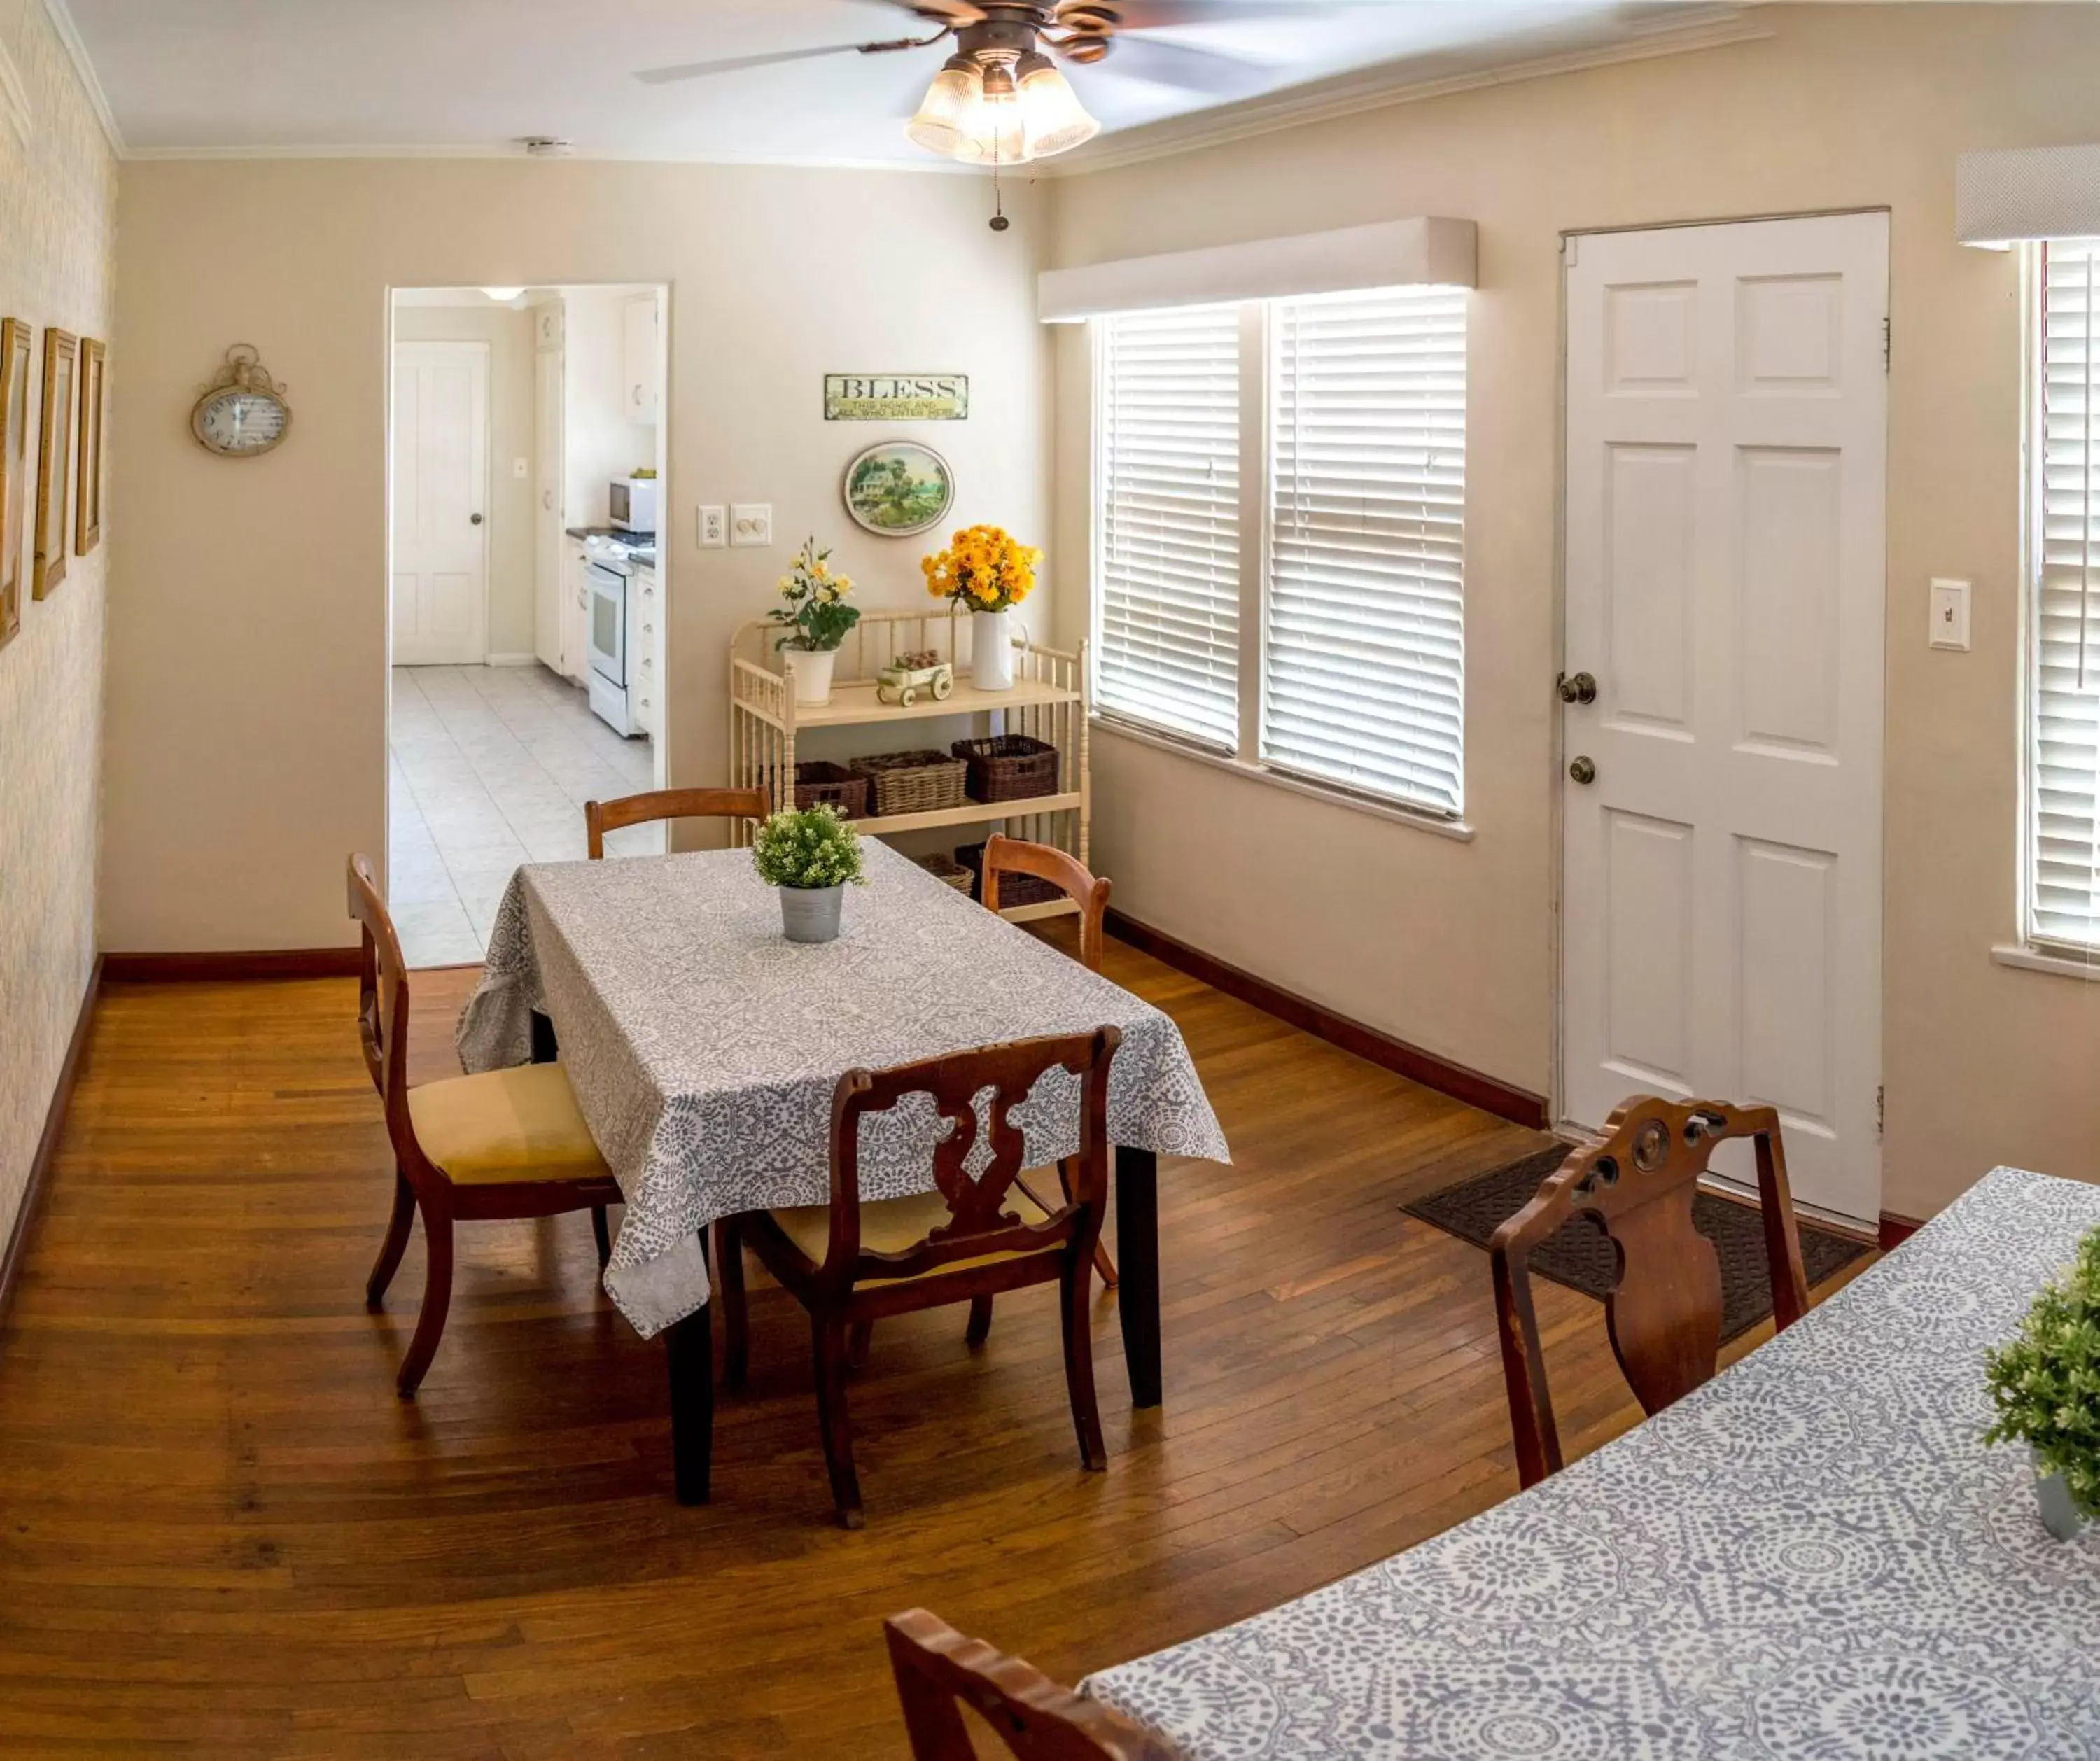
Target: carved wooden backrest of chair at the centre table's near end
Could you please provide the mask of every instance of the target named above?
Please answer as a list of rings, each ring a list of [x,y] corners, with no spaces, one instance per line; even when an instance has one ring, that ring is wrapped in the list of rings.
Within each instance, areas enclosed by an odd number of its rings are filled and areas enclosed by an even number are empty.
[[[1121,1039],[1121,1028],[1098,1026],[840,1077],[832,1094],[832,1234],[823,1285],[844,1295],[865,1278],[914,1278],[958,1259],[1058,1247],[1075,1234],[1084,1234],[1084,1251],[1092,1253],[1109,1192],[1109,1060]],[[1065,1203],[1048,1222],[1027,1224],[1008,1209],[1008,1194],[1025,1167],[1025,1140],[1010,1115],[1050,1068],[1069,1070],[1079,1081],[1079,1154],[1069,1157]],[[989,1161],[972,1177],[966,1165],[976,1150],[976,1098],[985,1089],[991,1089],[985,1110]],[[874,1253],[861,1247],[861,1121],[888,1112],[909,1096],[928,1096],[947,1125],[932,1154],[947,1222],[909,1249]]]

